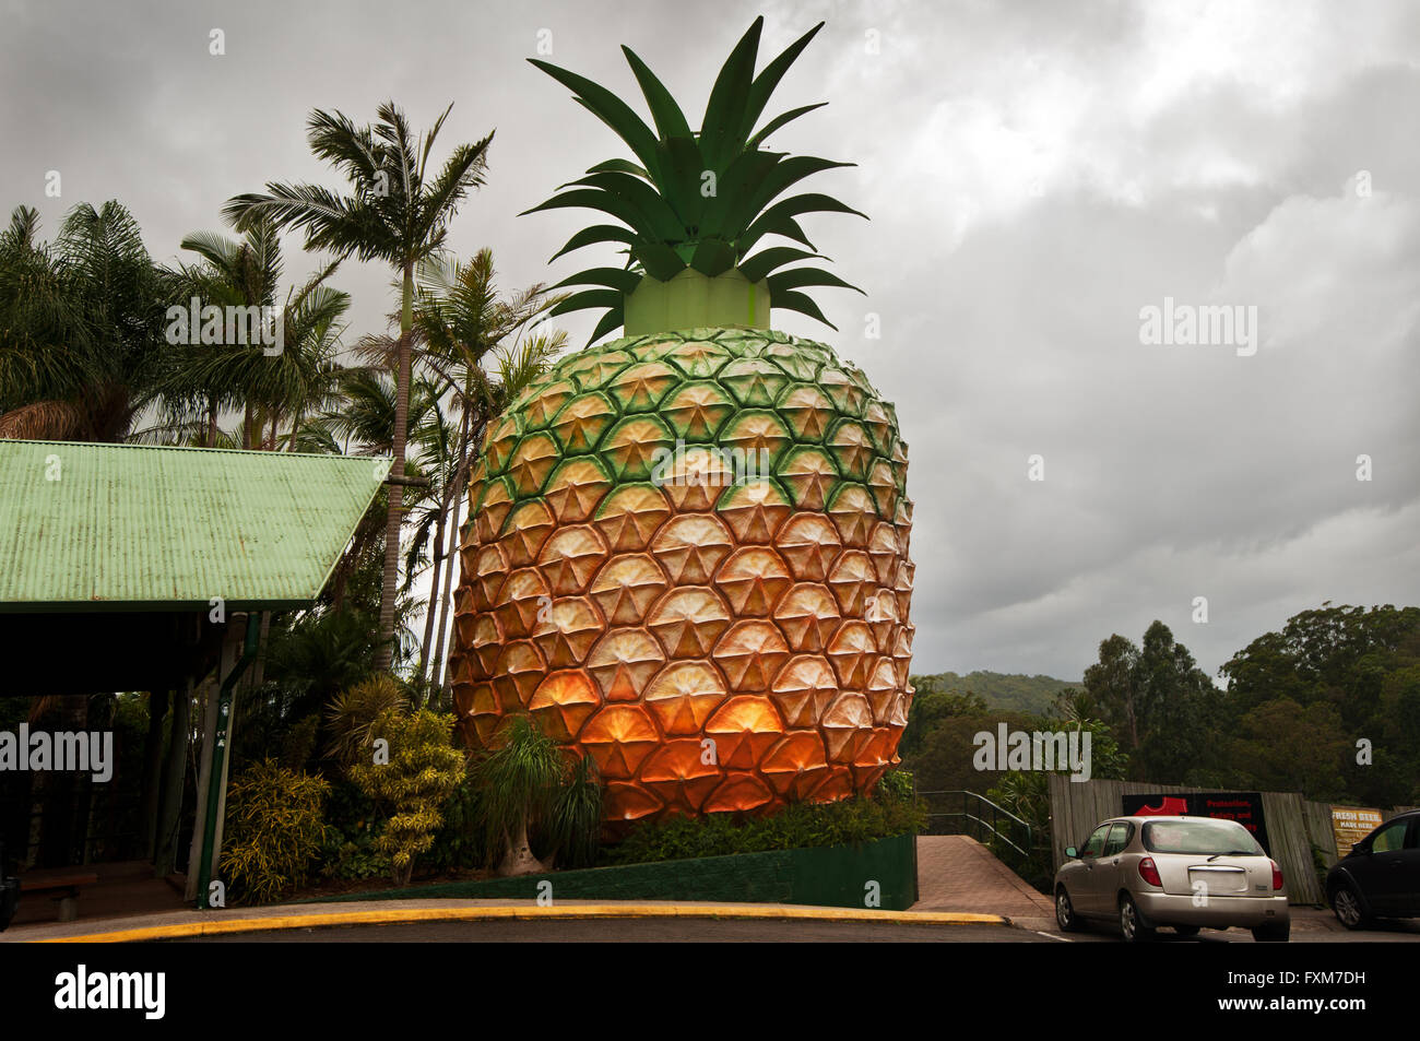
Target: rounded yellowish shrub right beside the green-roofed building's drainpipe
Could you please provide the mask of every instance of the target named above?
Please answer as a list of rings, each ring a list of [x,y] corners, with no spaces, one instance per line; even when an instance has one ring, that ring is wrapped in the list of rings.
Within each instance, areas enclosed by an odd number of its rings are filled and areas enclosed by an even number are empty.
[[[222,872],[234,900],[268,903],[305,885],[325,841],[321,818],[329,785],[264,760],[227,792]]]

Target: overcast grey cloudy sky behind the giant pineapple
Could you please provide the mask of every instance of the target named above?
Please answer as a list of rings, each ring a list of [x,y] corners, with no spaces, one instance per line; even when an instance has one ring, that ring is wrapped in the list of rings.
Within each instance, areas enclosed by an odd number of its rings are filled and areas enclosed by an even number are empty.
[[[51,231],[116,197],[149,249],[266,180],[335,183],[312,108],[395,98],[442,141],[497,128],[452,247],[506,285],[584,223],[515,217],[619,142],[524,58],[635,92],[636,50],[692,114],[755,14],[765,53],[828,26],[775,136],[872,220],[811,236],[863,300],[834,344],[897,405],[916,500],[916,672],[1078,679],[1169,623],[1210,672],[1325,599],[1420,602],[1420,6],[1257,3],[0,3],[0,203]],[[209,53],[223,30],[224,55]],[[761,54],[761,61],[764,54]],[[60,170],[62,197],[44,196]],[[295,246],[293,240],[291,246]],[[300,258],[288,274],[314,267]],[[388,273],[351,264],[351,338]],[[1140,311],[1255,307],[1258,349],[1147,345]],[[866,315],[882,337],[865,335]],[[589,324],[569,322],[585,341]],[[1044,459],[1044,480],[1028,459]],[[1356,457],[1373,480],[1356,480]],[[1206,596],[1208,622],[1191,621]]]

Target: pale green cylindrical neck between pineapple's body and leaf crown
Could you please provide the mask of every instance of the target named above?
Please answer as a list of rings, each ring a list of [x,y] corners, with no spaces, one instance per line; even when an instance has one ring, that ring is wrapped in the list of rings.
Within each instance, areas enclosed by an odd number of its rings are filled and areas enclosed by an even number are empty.
[[[737,270],[713,278],[692,267],[670,281],[650,276],[626,295],[628,337],[697,328],[770,328],[770,285],[751,283]]]

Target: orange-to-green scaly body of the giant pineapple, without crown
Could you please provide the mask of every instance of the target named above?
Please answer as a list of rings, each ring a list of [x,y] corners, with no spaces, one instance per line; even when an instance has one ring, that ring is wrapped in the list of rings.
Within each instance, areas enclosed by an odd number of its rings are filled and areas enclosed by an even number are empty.
[[[832,348],[701,328],[568,355],[490,429],[450,677],[531,713],[608,821],[869,790],[907,723],[907,447]]]

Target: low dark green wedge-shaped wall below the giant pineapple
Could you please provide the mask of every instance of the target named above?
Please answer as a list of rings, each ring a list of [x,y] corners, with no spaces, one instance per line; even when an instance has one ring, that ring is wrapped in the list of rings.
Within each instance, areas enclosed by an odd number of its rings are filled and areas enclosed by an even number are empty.
[[[716,900],[906,910],[917,902],[916,836],[899,835],[868,842],[859,848],[822,846],[659,861],[320,899],[322,902],[393,900],[444,896],[535,900],[547,892],[545,888],[540,890],[541,882],[552,885],[554,900]],[[869,883],[876,883],[875,905],[868,903]]]

